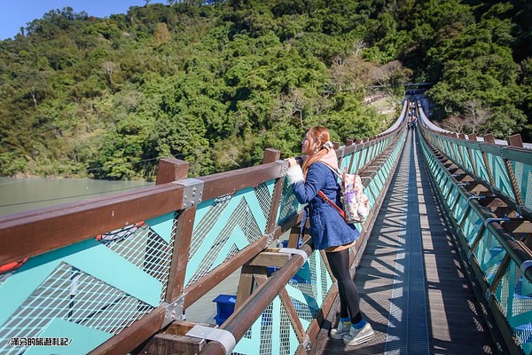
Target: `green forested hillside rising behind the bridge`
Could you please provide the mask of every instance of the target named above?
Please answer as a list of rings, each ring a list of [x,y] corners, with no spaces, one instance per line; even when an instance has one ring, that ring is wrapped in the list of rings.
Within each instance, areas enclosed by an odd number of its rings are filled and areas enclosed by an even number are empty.
[[[526,0],[168,1],[98,19],[46,13],[0,41],[0,175],[194,176],[297,154],[309,126],[333,139],[390,122],[364,96],[434,83],[442,125],[528,138]]]

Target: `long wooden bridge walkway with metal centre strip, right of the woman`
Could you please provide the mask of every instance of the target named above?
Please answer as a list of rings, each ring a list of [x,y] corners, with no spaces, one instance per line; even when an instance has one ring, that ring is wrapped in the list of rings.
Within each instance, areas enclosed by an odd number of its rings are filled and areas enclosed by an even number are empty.
[[[311,353],[497,353],[412,136],[356,271],[375,337],[347,347],[324,327]]]

